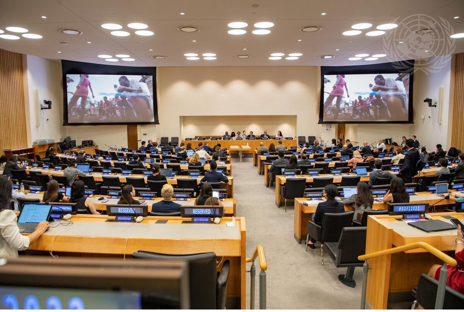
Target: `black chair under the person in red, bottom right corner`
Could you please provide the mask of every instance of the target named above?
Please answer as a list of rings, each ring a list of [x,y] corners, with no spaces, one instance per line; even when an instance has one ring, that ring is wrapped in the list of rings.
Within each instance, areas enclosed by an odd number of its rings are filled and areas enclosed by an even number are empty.
[[[417,305],[421,305],[425,310],[435,309],[437,291],[438,280],[427,274],[421,274],[417,290],[413,291],[416,300],[413,302],[411,309],[415,309]],[[443,310],[462,310],[463,306],[464,294],[446,286]]]

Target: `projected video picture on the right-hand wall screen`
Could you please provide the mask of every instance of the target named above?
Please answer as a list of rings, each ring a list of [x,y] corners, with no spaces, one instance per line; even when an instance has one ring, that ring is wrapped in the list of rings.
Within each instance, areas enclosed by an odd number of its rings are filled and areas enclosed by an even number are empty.
[[[409,74],[325,75],[323,121],[402,122],[409,117]]]

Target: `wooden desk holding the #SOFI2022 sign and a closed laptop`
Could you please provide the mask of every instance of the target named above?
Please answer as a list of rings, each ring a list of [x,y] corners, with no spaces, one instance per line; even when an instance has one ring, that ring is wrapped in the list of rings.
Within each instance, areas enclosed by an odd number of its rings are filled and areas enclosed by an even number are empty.
[[[464,221],[464,213],[429,213],[442,221],[444,215],[453,215]],[[441,251],[454,251],[457,230],[423,232],[395,220],[399,216],[369,216],[367,220],[366,254],[404,246],[413,242],[425,242]],[[387,309],[388,296],[392,293],[410,293],[418,285],[421,273],[427,273],[432,264],[443,264],[424,249],[413,249],[367,260],[366,308]]]

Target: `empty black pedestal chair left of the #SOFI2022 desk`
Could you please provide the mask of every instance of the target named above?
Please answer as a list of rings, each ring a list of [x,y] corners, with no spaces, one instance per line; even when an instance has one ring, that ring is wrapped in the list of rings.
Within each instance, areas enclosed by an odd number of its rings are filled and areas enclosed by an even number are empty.
[[[362,267],[364,261],[358,260],[358,256],[366,253],[367,227],[343,228],[338,241],[328,241],[323,245],[329,254],[335,267],[346,267],[347,273],[338,275],[344,285],[356,287],[353,280],[355,267]]]

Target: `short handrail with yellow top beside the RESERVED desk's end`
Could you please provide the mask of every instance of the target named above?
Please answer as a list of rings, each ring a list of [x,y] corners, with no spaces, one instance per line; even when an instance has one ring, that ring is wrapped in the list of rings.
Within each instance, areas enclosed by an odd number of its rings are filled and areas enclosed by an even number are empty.
[[[258,245],[253,252],[251,258],[246,258],[246,262],[251,262],[250,271],[250,309],[255,308],[255,260],[258,258],[259,267],[261,272],[259,272],[259,309],[266,309],[266,270],[267,270],[267,261],[266,255],[264,254],[264,248],[262,245]]]

